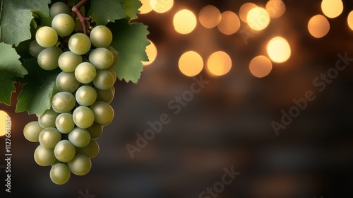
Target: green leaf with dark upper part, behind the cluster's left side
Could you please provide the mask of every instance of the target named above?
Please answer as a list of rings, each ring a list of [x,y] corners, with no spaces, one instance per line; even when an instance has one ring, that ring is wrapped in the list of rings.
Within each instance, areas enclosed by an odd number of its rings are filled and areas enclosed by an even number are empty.
[[[21,83],[25,83],[18,95],[16,112],[27,111],[28,114],[42,115],[51,107],[52,95],[56,92],[55,80],[60,69],[46,71],[37,64],[37,59],[25,59],[23,66],[28,69],[28,75]]]

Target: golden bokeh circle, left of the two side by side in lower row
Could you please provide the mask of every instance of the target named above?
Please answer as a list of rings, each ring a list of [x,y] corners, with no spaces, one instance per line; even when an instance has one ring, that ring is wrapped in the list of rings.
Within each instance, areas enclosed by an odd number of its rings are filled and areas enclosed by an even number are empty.
[[[185,76],[196,76],[203,69],[203,59],[197,52],[185,52],[179,58],[179,70]]]

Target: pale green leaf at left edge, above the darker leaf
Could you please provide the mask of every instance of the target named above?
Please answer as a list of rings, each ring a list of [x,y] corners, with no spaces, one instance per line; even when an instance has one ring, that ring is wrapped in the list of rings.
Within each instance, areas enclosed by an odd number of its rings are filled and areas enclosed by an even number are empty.
[[[23,77],[28,74],[19,60],[20,56],[11,45],[0,42],[0,54],[0,69],[10,72],[11,76]]]

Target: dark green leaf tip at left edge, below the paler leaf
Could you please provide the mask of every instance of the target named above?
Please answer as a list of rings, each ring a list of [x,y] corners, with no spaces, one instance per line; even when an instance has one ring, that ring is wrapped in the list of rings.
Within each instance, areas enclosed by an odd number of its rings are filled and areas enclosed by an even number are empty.
[[[0,70],[0,103],[11,104],[11,95],[16,91],[13,81],[15,79],[8,71]]]

